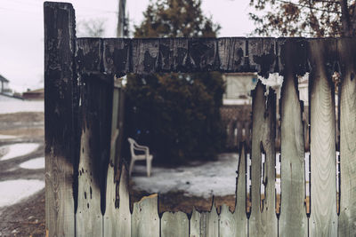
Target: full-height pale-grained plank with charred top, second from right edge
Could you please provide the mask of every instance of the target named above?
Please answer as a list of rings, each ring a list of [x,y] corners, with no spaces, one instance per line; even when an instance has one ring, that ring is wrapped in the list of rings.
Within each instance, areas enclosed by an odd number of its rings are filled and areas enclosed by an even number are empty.
[[[336,59],[336,40],[309,43],[311,115],[310,236],[336,236],[335,99],[330,60]]]

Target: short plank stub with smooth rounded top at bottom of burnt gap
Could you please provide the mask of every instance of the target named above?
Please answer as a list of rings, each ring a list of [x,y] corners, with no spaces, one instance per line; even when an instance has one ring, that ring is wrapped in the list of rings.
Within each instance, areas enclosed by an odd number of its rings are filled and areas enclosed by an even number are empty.
[[[182,211],[165,212],[161,217],[161,237],[189,236],[189,219]]]

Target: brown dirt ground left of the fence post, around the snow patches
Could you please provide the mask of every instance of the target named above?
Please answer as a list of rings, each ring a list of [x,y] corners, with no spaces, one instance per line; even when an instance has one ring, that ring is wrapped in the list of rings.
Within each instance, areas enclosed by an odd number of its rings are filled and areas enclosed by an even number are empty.
[[[0,139],[0,146],[18,143],[39,144],[31,154],[0,161],[0,181],[44,180],[44,169],[29,170],[19,166],[20,163],[33,158],[44,157],[44,113],[0,115],[0,134],[7,135],[7,138]],[[45,236],[44,219],[43,189],[14,205],[0,208],[0,236]]]

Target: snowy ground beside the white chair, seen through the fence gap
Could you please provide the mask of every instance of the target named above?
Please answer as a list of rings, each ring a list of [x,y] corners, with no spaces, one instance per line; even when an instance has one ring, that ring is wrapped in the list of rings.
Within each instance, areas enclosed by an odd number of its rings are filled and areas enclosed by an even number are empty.
[[[150,178],[146,177],[145,165],[135,165],[134,189],[160,194],[184,191],[204,198],[235,194],[238,160],[238,154],[221,154],[215,162],[196,162],[174,169],[152,167]]]

